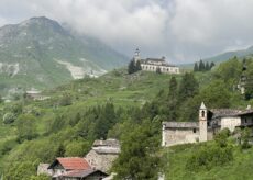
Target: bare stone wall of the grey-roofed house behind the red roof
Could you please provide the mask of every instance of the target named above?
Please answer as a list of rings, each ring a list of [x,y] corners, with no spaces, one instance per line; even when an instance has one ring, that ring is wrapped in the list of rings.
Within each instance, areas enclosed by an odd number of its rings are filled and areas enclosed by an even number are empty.
[[[108,172],[118,156],[117,154],[98,154],[96,150],[91,149],[85,158],[92,168]]]

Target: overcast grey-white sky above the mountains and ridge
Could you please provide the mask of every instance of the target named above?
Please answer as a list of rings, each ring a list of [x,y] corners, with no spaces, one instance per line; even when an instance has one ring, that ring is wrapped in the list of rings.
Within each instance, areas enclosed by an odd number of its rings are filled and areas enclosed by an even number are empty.
[[[253,0],[0,0],[0,26],[41,15],[174,64],[253,45]]]

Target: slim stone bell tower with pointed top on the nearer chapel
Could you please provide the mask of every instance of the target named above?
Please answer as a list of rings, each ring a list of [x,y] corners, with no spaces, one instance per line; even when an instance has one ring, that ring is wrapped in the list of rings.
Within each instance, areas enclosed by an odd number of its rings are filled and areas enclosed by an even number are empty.
[[[199,142],[207,142],[207,108],[204,102],[199,109]]]

